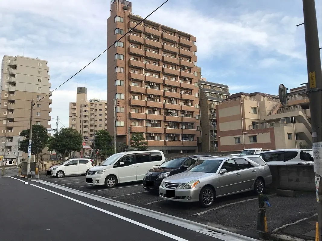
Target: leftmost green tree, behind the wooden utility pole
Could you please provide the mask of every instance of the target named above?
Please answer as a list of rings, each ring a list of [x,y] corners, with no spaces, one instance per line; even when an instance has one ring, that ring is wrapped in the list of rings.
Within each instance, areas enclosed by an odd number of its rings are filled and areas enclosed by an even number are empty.
[[[19,142],[19,151],[23,151],[28,153],[29,147],[29,129],[25,129],[20,132],[21,137],[25,137]],[[43,166],[43,161],[39,160],[39,156],[41,155],[43,149],[46,147],[48,140],[48,132],[47,129],[43,127],[43,125],[33,125],[33,133],[31,135],[31,155],[36,156],[36,160],[41,163]]]

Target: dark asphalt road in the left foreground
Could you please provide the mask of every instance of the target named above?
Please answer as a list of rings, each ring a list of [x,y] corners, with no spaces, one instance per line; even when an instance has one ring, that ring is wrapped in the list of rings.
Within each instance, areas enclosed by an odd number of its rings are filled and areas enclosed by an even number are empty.
[[[41,183],[0,178],[0,235],[34,240],[219,240]]]

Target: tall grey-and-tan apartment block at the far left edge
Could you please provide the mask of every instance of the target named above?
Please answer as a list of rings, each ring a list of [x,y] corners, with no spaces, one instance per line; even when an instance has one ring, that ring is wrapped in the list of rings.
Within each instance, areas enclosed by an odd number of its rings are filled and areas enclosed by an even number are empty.
[[[51,83],[47,64],[46,60],[23,56],[5,55],[2,59],[0,156],[3,159],[12,159],[14,164],[18,156],[20,160],[28,156],[20,151],[18,153],[18,146],[19,133],[29,129],[31,99],[35,102],[33,124],[51,128],[48,123],[51,121],[49,114],[52,111],[51,94],[49,94]],[[43,99],[40,100],[41,98]],[[46,154],[44,159],[49,159],[50,153],[47,150],[44,150],[44,154]]]

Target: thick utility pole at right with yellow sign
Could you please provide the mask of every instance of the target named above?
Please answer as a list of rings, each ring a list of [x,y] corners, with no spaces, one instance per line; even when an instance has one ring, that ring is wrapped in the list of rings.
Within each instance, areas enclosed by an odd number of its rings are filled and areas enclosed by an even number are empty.
[[[314,173],[317,191],[317,219],[319,240],[321,236],[322,224],[322,200],[321,200],[321,162],[322,162],[322,70],[320,58],[320,46],[317,31],[317,15],[314,0],[303,0],[304,30],[306,44],[306,58],[308,64],[308,97],[310,100],[311,125],[312,125],[312,142],[314,155]]]

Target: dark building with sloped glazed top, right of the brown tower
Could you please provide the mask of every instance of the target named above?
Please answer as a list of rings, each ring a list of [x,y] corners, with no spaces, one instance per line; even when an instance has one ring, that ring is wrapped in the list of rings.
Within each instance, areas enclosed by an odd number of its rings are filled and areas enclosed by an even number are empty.
[[[216,106],[230,96],[227,85],[201,78],[199,81],[202,152],[218,151]]]

